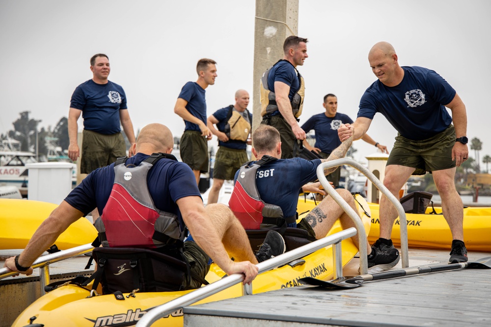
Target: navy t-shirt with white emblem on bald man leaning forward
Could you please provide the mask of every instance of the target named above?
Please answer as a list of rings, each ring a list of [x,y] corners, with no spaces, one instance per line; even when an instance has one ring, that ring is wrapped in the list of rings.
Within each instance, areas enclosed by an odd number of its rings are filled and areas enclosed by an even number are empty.
[[[452,117],[445,105],[455,90],[435,71],[423,67],[402,67],[404,78],[393,87],[375,81],[360,100],[358,117],[373,119],[380,112],[404,137],[424,140],[445,130]]]

